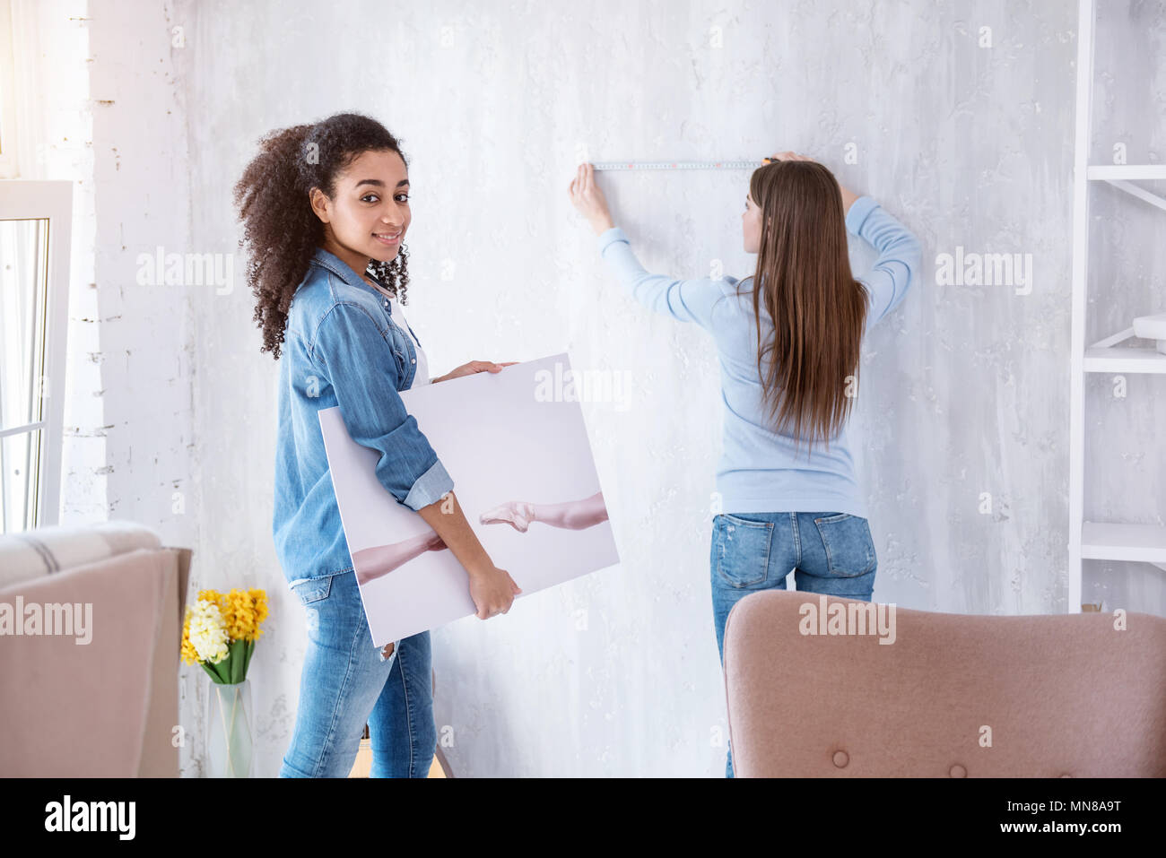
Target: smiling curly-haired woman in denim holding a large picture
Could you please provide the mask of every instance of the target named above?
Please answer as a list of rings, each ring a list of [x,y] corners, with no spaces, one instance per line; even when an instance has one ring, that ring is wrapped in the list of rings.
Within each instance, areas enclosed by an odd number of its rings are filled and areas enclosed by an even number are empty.
[[[400,309],[408,197],[396,138],[354,113],[265,135],[234,188],[260,351],[280,360],[275,548],[308,612],[280,776],[346,776],[366,723],[374,778],[423,778],[436,750],[429,632],[372,645],[317,412],[338,406],[352,439],[380,453],[378,480],[466,569],[480,619],[506,613],[521,592],[470,529],[452,478],[401,401],[415,380],[430,381]],[[475,360],[431,381],[504,366]]]

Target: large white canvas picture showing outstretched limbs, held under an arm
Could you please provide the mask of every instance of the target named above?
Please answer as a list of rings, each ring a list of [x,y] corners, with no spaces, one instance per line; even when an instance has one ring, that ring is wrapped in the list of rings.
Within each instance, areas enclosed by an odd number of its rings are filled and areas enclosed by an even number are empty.
[[[401,399],[494,565],[522,589],[515,607],[522,596],[619,562],[567,354],[423,385]],[[377,451],[352,441],[338,407],[321,410],[319,424],[371,646],[475,614],[465,569],[378,481]]]

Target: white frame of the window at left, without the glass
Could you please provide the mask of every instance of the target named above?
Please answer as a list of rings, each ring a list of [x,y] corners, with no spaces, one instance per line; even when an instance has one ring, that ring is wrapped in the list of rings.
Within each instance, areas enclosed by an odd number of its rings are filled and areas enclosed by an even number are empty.
[[[29,480],[31,527],[61,522],[61,460],[64,439],[65,349],[69,337],[69,251],[72,226],[72,182],[0,181],[0,220],[47,219],[43,396],[34,421],[0,426],[0,437],[41,431],[41,444]],[[30,358],[33,356],[29,356]]]

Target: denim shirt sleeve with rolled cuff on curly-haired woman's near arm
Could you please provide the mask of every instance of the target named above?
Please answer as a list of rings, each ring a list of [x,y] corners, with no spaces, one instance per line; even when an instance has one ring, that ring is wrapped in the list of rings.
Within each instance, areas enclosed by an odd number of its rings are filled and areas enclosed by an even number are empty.
[[[349,435],[379,453],[377,479],[398,502],[416,511],[454,488],[401,401],[392,345],[363,307],[338,303],[329,310],[311,353],[336,393]]]

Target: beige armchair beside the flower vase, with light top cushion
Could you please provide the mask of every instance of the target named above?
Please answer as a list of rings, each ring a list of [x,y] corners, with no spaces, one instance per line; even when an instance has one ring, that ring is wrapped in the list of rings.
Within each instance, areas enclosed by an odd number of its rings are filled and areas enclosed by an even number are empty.
[[[0,536],[0,776],[177,776],[190,557],[126,522]]]

